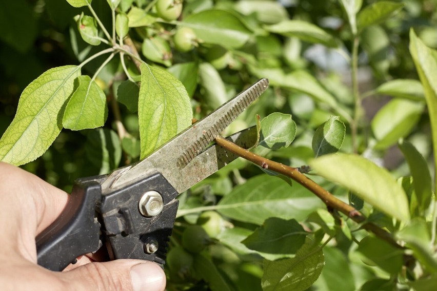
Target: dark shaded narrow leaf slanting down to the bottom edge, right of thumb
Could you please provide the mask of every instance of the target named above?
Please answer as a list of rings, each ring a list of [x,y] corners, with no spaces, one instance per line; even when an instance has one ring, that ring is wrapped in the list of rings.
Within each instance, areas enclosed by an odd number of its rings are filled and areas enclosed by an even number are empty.
[[[208,282],[212,291],[230,291],[228,283],[223,279],[222,274],[218,272],[215,264],[201,254],[194,256],[194,271],[197,276]]]

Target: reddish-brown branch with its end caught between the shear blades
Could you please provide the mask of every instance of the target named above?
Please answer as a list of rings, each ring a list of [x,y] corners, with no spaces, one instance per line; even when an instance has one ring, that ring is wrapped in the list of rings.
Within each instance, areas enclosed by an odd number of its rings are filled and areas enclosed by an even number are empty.
[[[380,237],[381,239],[384,239],[385,241],[389,242],[391,245],[395,247],[403,248],[393,239],[390,233],[383,230],[383,228],[379,227],[376,224],[373,224],[371,222],[366,222],[366,217],[361,212],[357,211],[351,205],[336,198],[329,191],[325,190],[322,186],[320,186],[319,184],[317,184],[316,182],[314,182],[313,180],[302,174],[297,168],[292,168],[282,163],[275,162],[267,158],[264,158],[262,156],[259,156],[257,154],[254,154],[252,152],[249,152],[248,150],[237,146],[235,143],[221,136],[215,138],[215,142],[219,146],[228,150],[229,152],[232,152],[242,158],[245,158],[264,169],[269,169],[271,171],[290,177],[291,179],[303,185],[306,189],[314,193],[317,197],[319,197],[326,204],[328,208],[335,209],[345,214],[347,217],[349,217],[350,219],[352,219],[357,223],[363,223],[362,227],[365,230],[374,233],[376,236]]]

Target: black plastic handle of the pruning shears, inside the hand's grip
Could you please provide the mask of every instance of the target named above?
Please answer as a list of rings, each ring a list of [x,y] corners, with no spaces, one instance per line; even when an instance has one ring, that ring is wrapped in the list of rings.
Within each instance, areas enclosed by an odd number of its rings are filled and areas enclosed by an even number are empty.
[[[64,211],[36,237],[39,265],[62,271],[78,256],[98,250],[100,223],[96,205],[101,199],[101,185],[95,178],[75,182]]]

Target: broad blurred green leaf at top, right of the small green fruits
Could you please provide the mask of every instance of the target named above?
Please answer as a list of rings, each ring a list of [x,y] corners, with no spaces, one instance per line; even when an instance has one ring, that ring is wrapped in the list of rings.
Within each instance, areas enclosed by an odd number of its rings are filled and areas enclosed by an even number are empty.
[[[238,17],[224,10],[212,9],[191,14],[180,25],[193,29],[197,38],[204,43],[226,48],[240,48],[251,36]]]

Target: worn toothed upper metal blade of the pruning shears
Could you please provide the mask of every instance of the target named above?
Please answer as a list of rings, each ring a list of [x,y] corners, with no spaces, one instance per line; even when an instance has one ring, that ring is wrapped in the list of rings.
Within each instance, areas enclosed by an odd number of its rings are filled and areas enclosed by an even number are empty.
[[[193,160],[197,157],[196,163],[198,163],[199,158],[202,158],[201,161],[205,164],[205,168],[212,167],[214,169],[216,167],[214,164],[220,163],[220,158],[214,161],[214,158],[209,158],[211,153],[206,155],[203,150],[267,87],[268,80],[265,78],[260,79],[220,108],[175,136],[144,160],[112,172],[103,182],[102,189],[115,189],[140,179],[144,175],[160,172],[178,193],[182,193],[189,188],[187,188],[187,185],[193,185],[195,182],[192,183],[192,181],[198,180],[200,177],[192,177],[194,168],[190,164],[194,162]],[[199,155],[200,153],[202,155]],[[197,169],[199,165],[193,165],[193,167]],[[220,168],[215,169],[215,171],[218,169]],[[210,174],[215,172],[213,170],[208,171]]]

